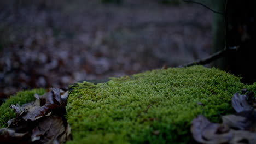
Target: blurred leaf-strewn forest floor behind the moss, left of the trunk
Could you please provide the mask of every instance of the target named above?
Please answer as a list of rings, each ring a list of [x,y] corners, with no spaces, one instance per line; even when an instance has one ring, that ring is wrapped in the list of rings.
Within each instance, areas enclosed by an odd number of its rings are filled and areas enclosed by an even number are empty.
[[[212,12],[179,0],[0,2],[0,97],[176,67],[212,53]]]

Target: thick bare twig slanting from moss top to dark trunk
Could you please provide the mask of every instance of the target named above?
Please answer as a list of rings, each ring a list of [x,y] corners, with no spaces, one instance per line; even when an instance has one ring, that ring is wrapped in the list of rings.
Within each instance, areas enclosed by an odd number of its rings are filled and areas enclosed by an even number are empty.
[[[238,48],[239,48],[239,46],[229,47],[228,49],[224,48],[223,50],[220,50],[216,53],[213,53],[213,55],[208,56],[206,58],[198,59],[194,62],[187,63],[187,64],[184,64],[184,65],[180,65],[179,68],[189,67],[189,66],[192,66],[192,65],[205,65],[205,64],[211,63],[212,61],[215,61],[216,59],[225,56],[230,51],[237,50]]]

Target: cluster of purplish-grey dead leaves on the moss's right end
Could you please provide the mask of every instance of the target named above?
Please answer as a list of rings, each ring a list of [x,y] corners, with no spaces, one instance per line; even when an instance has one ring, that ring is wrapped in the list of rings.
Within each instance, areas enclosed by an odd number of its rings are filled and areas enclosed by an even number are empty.
[[[243,89],[245,94],[247,89]],[[231,99],[235,114],[222,116],[222,123],[212,123],[199,115],[192,121],[191,133],[199,143],[256,143],[256,100],[253,92],[235,93]]]

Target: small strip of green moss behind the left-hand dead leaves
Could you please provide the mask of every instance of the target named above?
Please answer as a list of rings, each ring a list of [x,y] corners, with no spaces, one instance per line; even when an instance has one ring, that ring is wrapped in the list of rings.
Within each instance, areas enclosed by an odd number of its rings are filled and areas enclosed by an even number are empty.
[[[11,96],[9,99],[5,101],[0,106],[0,128],[7,127],[7,121],[11,118],[16,116],[16,113],[13,109],[10,109],[11,104],[25,104],[30,101],[34,101],[34,94],[44,94],[44,89],[33,89],[30,91],[21,91],[18,92],[16,95]]]

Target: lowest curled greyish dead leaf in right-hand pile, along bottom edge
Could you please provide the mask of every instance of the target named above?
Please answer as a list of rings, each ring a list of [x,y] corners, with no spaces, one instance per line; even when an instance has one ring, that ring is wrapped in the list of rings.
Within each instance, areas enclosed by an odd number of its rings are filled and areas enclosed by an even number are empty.
[[[211,123],[202,115],[197,116],[193,120],[191,133],[197,142],[205,144],[254,144],[256,142],[256,133],[245,130],[234,130],[226,124]]]

